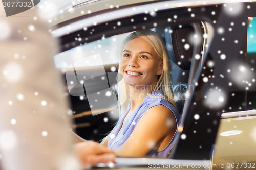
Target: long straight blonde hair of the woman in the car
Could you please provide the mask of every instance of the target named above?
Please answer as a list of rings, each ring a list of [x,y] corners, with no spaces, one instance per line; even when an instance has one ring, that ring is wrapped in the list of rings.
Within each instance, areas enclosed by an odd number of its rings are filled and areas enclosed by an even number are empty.
[[[153,47],[154,50],[156,51],[157,55],[159,56],[159,60],[163,61],[163,71],[162,74],[158,76],[158,81],[157,83],[153,86],[153,89],[147,89],[147,95],[150,96],[151,98],[156,98],[159,96],[161,98],[166,99],[169,101],[175,108],[177,108],[174,96],[173,96],[173,86],[172,86],[172,76],[170,74],[171,67],[170,67],[170,61],[167,53],[167,48],[165,43],[163,42],[162,38],[155,33],[154,31],[151,30],[139,30],[136,32],[131,33],[128,35],[122,42],[121,44],[121,55],[123,53],[123,48],[124,45],[135,39],[135,38],[143,38],[147,42],[149,42]],[[121,61],[121,60],[120,60]],[[122,117],[125,112],[127,111],[128,104],[129,104],[129,85],[127,85],[124,82],[123,77],[120,74],[120,64],[118,67],[118,76],[117,76],[117,96],[118,96],[118,112],[119,112],[119,120],[120,117]],[[158,96],[156,96],[158,90],[162,90],[163,95],[158,93]],[[153,95],[152,95],[153,93]],[[155,94],[155,95],[154,95]],[[106,140],[108,140],[109,136],[114,133],[112,131],[108,136],[106,136],[101,144],[103,144]]]

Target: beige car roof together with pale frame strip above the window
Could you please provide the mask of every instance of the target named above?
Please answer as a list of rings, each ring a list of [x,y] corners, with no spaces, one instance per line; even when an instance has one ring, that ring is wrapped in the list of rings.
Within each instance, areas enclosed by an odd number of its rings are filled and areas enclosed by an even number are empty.
[[[78,0],[76,0],[78,1]],[[131,4],[117,6],[119,1],[103,0],[88,4],[80,3],[73,6],[63,6],[54,11],[52,16],[52,24],[57,26],[53,28],[52,35],[54,37],[61,37],[67,33],[72,33],[85,27],[92,27],[100,23],[118,20],[129,16],[135,16],[152,11],[172,9],[178,7],[199,7],[223,3],[247,2],[247,1],[193,1],[193,0],[179,0],[179,1],[145,1],[141,0],[140,4]],[[126,0],[125,0],[126,1]],[[134,0],[132,0],[134,2]],[[144,1],[144,2],[142,2]],[[110,5],[113,8],[110,8]],[[114,8],[115,5],[115,8]],[[111,6],[111,7],[112,7]],[[118,8],[117,8],[118,7]]]

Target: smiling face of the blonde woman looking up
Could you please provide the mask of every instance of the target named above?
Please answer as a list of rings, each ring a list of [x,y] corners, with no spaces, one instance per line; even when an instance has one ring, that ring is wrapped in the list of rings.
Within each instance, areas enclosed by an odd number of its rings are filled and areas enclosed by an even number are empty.
[[[153,85],[162,73],[162,62],[149,42],[135,38],[124,45],[120,72],[130,86]]]

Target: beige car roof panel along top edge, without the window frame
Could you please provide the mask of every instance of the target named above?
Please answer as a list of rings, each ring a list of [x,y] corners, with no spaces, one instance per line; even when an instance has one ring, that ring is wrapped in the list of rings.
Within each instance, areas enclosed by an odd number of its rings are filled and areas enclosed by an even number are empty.
[[[167,8],[189,7],[189,6],[205,6],[212,4],[248,2],[246,0],[208,0],[208,1],[194,1],[194,0],[75,0],[61,8],[53,11],[49,17],[52,18],[52,25],[59,25],[60,23],[70,21],[81,16],[88,16],[97,12],[118,10],[120,7],[131,7],[143,4],[151,4],[157,2],[165,2]],[[170,5],[168,5],[168,3]]]

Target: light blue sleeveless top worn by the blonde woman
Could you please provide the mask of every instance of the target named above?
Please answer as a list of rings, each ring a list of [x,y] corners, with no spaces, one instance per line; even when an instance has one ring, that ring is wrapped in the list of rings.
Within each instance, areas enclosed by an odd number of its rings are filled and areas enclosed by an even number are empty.
[[[156,93],[156,96],[159,96],[158,93],[163,95],[162,90],[158,90]],[[124,120],[125,116],[127,115],[127,113],[129,112],[131,105],[129,106],[126,113],[123,115],[123,117],[119,119],[118,123],[112,130],[112,131],[114,131],[114,133],[109,138],[108,148],[112,149],[114,151],[117,151],[123,145],[123,143],[130,137],[130,135],[132,134],[132,132],[133,132],[135,126],[137,125],[139,119],[141,118],[141,116],[148,109],[150,109],[151,107],[156,106],[156,105],[164,105],[165,107],[169,108],[173,112],[175,119],[176,119],[176,127],[178,129],[178,123],[179,123],[179,119],[180,119],[178,110],[172,104],[170,104],[167,100],[165,100],[163,98],[160,98],[160,97],[159,98],[151,98],[150,96],[146,96],[146,98],[144,98],[144,100],[143,100],[143,103],[140,106],[138,106],[126,118],[126,122],[124,124],[123,124],[123,120]],[[122,124],[123,124],[123,126],[122,126]],[[175,131],[175,134],[177,132],[177,129]],[[174,136],[176,136],[176,135],[174,135]],[[173,137],[172,140],[170,140],[168,145],[163,150],[150,151],[147,154],[147,156],[166,158],[169,154],[169,151],[173,148],[174,143],[175,143],[175,137]]]

